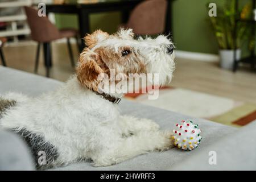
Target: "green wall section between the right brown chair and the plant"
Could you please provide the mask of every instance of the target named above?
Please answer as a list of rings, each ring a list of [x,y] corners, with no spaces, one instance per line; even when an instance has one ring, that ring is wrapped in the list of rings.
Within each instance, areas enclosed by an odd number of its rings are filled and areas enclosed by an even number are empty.
[[[217,53],[217,42],[210,30],[209,0],[177,0],[174,2],[174,42],[177,49],[191,52]],[[223,0],[210,1],[217,4]]]

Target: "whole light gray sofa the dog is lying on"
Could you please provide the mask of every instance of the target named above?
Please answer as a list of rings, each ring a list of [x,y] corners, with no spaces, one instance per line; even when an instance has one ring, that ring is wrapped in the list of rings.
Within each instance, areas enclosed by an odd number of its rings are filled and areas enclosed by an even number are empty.
[[[0,67],[0,94],[11,91],[22,92],[29,96],[38,96],[41,93],[57,88],[60,84],[62,83],[49,78]],[[119,107],[123,114],[154,119],[162,129],[172,129],[175,123],[180,122],[182,119],[192,119],[199,124],[203,140],[199,147],[193,151],[181,151],[177,148],[172,148],[164,152],[151,152],[140,155],[109,167],[93,167],[89,162],[80,162],[54,168],[53,170],[256,169],[256,122],[238,130],[234,127],[220,125],[205,119],[192,118],[187,115],[126,100],[122,100]],[[13,139],[1,140],[1,138],[5,138],[5,135],[10,135],[10,133],[4,133],[3,131],[0,131],[0,133],[0,148],[2,148],[6,146],[6,143],[11,143]],[[3,153],[5,155],[15,155],[13,150],[13,147],[5,147],[0,150],[0,155],[4,155]],[[209,163],[209,159],[214,157],[209,156],[210,151],[216,154],[217,164]],[[0,158],[0,169],[12,169],[11,164],[13,163],[10,163],[10,167],[7,167],[8,164],[1,162],[1,160],[5,160],[5,158]],[[29,157],[27,160],[30,160]],[[6,166],[2,167],[2,165]],[[20,160],[20,168],[16,165],[13,169],[31,169],[29,164],[26,164],[26,166],[28,167],[24,167],[22,160]]]

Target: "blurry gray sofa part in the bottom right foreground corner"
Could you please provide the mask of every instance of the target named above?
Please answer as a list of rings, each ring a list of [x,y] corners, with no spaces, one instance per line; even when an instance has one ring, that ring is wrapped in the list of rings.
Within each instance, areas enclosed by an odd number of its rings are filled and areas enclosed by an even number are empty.
[[[256,170],[256,121],[197,152],[172,170]],[[209,152],[216,164],[209,164]],[[212,160],[210,160],[212,162]]]

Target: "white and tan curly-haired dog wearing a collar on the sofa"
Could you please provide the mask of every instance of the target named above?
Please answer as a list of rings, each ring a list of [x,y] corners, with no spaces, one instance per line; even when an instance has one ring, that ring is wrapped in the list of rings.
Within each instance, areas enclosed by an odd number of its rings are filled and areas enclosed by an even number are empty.
[[[164,35],[134,39],[131,29],[113,35],[97,30],[85,36],[76,75],[59,89],[30,98],[18,93],[0,97],[0,128],[21,135],[38,168],[91,160],[109,166],[148,151],[168,150],[171,131],[149,119],[121,115],[118,93],[99,93],[100,73],[159,73],[170,81],[174,46]],[[46,161],[40,156],[45,156]]]

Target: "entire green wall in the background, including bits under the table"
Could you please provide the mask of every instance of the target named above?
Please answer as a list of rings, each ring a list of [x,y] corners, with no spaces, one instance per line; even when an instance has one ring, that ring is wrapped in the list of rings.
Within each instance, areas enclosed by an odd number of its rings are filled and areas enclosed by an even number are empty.
[[[176,0],[173,2],[174,43],[179,50],[203,53],[217,53],[216,38],[210,27],[207,4],[224,5],[224,0]],[[243,0],[246,2],[246,0]],[[56,15],[61,27],[78,27],[75,15]],[[90,15],[90,31],[97,28],[113,33],[121,23],[118,12]],[[171,22],[170,22],[171,23]]]

